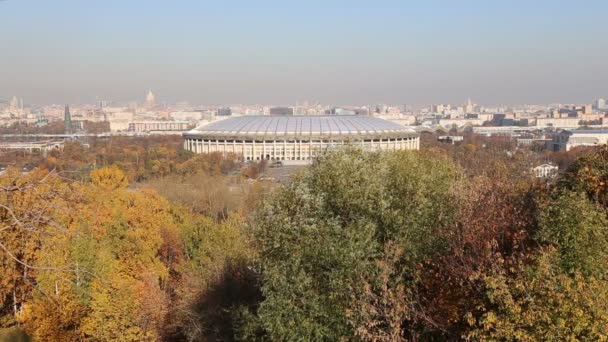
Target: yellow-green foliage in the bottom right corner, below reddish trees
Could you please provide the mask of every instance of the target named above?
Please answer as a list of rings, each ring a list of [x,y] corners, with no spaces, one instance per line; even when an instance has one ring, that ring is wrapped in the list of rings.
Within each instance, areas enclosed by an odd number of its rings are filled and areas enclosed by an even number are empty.
[[[467,319],[470,340],[605,341],[608,338],[608,284],[561,272],[553,249],[541,250],[531,266],[497,268],[479,275],[487,305]]]

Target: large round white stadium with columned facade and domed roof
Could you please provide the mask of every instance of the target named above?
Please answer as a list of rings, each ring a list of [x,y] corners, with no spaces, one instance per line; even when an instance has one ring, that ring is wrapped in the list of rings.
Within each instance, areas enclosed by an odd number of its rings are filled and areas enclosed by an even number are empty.
[[[240,116],[184,133],[195,153],[234,153],[244,160],[309,162],[322,151],[351,144],[366,150],[417,150],[413,130],[379,118],[345,116]]]

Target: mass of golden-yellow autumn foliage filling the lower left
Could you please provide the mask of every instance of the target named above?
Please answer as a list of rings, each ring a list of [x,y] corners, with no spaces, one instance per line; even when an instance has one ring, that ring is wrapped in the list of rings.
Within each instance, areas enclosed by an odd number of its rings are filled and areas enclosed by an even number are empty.
[[[127,189],[117,167],[90,178],[0,177],[1,326],[19,322],[35,340],[198,340],[226,320],[210,308],[227,312],[257,295],[238,216],[218,223]],[[225,299],[211,305],[213,295]]]

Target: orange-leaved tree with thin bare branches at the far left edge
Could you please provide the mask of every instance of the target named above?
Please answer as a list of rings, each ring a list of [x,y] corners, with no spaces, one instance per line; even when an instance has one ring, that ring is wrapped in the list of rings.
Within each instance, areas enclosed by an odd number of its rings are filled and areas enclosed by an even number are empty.
[[[31,298],[38,272],[64,271],[62,265],[39,262],[44,240],[61,233],[54,225],[52,203],[67,188],[54,174],[9,169],[0,177],[0,314],[2,321],[22,312]],[[10,313],[10,314],[9,314]]]

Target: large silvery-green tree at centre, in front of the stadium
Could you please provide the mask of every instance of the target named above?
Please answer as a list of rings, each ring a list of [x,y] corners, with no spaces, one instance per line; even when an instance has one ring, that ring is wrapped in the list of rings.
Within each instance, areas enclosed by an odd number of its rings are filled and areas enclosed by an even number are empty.
[[[439,156],[347,149],[293,178],[252,226],[264,296],[257,314],[268,336],[353,338],[368,323],[357,310],[369,303],[365,292],[384,290],[376,279],[385,245],[402,251],[389,259],[399,269],[391,286],[401,289],[414,287],[416,265],[445,246],[440,232],[454,215],[459,177]],[[408,326],[420,317],[414,296],[405,303]]]

